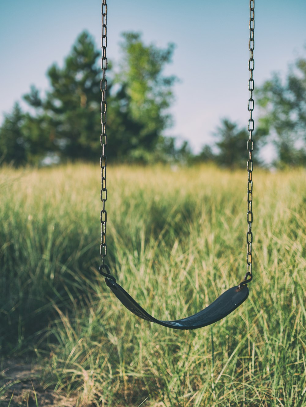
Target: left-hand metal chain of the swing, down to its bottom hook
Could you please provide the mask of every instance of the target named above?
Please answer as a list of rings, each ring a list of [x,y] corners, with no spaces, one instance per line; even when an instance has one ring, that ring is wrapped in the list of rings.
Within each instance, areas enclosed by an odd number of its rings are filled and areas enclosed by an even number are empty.
[[[101,274],[102,269],[106,269],[107,273],[110,274],[108,267],[104,264],[104,258],[107,254],[107,245],[106,245],[106,221],[107,213],[105,210],[105,202],[107,200],[107,189],[106,189],[106,145],[107,145],[107,134],[106,134],[106,90],[107,90],[107,80],[106,80],[106,70],[107,70],[107,57],[106,57],[106,47],[107,47],[107,29],[106,29],[106,20],[107,20],[107,4],[106,0],[102,1],[101,7],[102,14],[102,35],[101,35],[101,48],[102,48],[102,58],[101,58],[101,70],[102,70],[102,79],[101,79],[101,92],[102,92],[102,101],[101,101],[101,125],[102,132],[100,137],[102,155],[100,158],[101,166],[101,201],[102,201],[102,210],[100,214],[101,219],[101,245],[100,245],[100,254],[102,258],[102,265],[99,268]]]

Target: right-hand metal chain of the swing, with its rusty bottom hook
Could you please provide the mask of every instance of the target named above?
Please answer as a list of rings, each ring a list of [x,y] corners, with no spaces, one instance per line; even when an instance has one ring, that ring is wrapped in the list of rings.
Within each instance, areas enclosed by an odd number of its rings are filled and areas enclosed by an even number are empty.
[[[244,280],[240,282],[238,285],[238,290],[241,290],[244,285],[250,282],[253,278],[252,274],[252,243],[253,243],[253,233],[252,233],[252,223],[253,223],[253,210],[252,210],[252,203],[253,203],[253,179],[252,179],[252,172],[253,172],[253,160],[252,160],[252,153],[253,153],[253,131],[254,131],[254,120],[252,117],[253,109],[254,109],[254,99],[253,99],[253,92],[254,92],[254,79],[253,79],[253,70],[254,70],[254,2],[255,0],[250,0],[250,21],[249,21],[249,28],[250,28],[250,37],[249,37],[249,51],[250,51],[250,58],[249,58],[249,71],[250,71],[250,78],[249,78],[249,102],[248,102],[248,110],[250,112],[250,118],[248,123],[248,131],[249,131],[249,140],[247,142],[247,151],[248,151],[248,161],[247,161],[247,171],[248,171],[248,185],[247,185],[247,202],[248,202],[248,210],[247,210],[247,273],[244,276]]]

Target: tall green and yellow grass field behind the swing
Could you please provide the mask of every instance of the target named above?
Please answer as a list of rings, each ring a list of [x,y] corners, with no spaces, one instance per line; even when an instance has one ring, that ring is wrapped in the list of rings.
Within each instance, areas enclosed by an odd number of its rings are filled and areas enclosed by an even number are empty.
[[[108,168],[106,263],[147,311],[185,317],[240,282],[246,171]],[[31,362],[74,407],[306,406],[306,172],[253,175],[249,298],[180,331],[129,313],[97,272],[99,166],[2,168],[0,368]]]

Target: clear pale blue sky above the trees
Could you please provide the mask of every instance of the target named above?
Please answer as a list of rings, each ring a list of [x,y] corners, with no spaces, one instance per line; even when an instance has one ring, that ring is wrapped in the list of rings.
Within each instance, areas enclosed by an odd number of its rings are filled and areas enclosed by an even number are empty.
[[[180,79],[170,109],[174,126],[167,135],[188,140],[198,152],[213,142],[222,118],[247,127],[249,0],[107,3],[107,57],[114,64],[120,61],[124,31],[141,32],[145,44],[176,44],[165,69]],[[255,88],[273,72],[284,77],[290,63],[306,56],[305,15],[305,0],[255,0]],[[100,0],[0,0],[0,123],[32,84],[48,89],[48,67],[62,66],[85,29],[100,46]],[[255,127],[258,114],[255,100]]]

